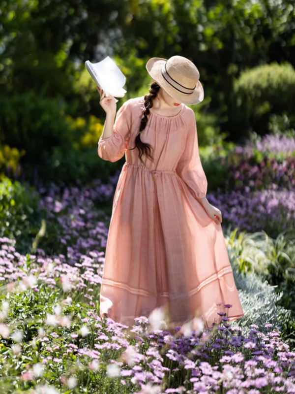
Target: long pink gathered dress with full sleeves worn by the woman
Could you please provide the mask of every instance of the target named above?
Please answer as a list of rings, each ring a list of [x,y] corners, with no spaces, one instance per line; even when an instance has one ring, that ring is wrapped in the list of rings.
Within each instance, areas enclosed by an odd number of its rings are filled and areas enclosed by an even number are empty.
[[[150,109],[141,139],[154,150],[144,163],[135,146],[144,96],[119,108],[114,133],[99,138],[98,155],[115,162],[125,155],[116,188],[100,292],[100,315],[131,327],[134,317],[165,306],[170,322],[200,316],[206,327],[244,316],[221,224],[196,198],[206,197],[207,178],[198,148],[193,110],[181,104],[167,117]],[[229,310],[225,304],[232,304]]]

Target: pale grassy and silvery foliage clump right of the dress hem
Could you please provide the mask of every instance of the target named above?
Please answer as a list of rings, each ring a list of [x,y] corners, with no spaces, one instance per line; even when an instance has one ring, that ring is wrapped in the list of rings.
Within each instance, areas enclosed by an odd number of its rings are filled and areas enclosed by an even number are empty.
[[[276,239],[265,231],[227,230],[225,240],[249,319],[245,325],[277,321],[283,335],[295,340],[295,230],[282,231]]]

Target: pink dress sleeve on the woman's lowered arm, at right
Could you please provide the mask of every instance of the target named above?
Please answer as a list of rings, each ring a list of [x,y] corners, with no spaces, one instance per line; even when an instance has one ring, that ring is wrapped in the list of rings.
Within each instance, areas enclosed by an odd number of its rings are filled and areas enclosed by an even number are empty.
[[[207,178],[200,160],[197,125],[193,110],[191,110],[188,119],[184,152],[177,163],[176,171],[195,198],[206,197]]]

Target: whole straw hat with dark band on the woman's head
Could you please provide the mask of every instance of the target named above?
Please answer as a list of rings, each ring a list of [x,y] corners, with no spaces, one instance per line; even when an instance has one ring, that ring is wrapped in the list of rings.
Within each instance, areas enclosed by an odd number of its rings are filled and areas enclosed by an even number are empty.
[[[198,68],[183,56],[169,59],[150,58],[146,64],[149,75],[174,99],[183,104],[198,104],[204,99]]]

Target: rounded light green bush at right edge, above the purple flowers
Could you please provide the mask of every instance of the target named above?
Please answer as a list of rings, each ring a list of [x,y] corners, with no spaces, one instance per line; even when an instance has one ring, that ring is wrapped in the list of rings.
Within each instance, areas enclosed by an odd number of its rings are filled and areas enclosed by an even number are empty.
[[[235,81],[229,127],[239,138],[249,131],[264,134],[271,114],[293,115],[295,69],[289,63],[271,63],[242,72]]]

